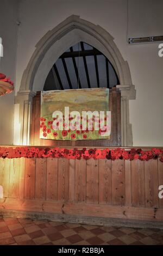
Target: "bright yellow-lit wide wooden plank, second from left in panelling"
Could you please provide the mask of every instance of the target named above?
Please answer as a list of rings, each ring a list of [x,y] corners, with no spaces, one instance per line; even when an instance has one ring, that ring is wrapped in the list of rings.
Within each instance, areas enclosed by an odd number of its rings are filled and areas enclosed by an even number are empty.
[[[20,159],[10,159],[9,197],[19,196]]]

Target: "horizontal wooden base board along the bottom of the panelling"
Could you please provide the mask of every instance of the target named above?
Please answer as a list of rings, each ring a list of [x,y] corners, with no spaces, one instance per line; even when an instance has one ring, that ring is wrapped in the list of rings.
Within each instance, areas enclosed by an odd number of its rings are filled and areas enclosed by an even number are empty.
[[[52,214],[68,214],[80,216],[95,216],[105,218],[122,218],[124,220],[163,221],[163,209],[155,211],[154,208],[74,204],[70,202],[53,202],[45,200],[20,200],[8,198],[0,204],[1,209],[21,210],[32,212],[49,212]]]

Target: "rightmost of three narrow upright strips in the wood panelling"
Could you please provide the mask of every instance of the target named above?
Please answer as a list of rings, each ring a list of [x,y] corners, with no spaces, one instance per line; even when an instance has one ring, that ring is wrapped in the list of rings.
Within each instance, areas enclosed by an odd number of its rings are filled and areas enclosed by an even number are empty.
[[[131,161],[124,161],[125,169],[125,205],[131,205]]]

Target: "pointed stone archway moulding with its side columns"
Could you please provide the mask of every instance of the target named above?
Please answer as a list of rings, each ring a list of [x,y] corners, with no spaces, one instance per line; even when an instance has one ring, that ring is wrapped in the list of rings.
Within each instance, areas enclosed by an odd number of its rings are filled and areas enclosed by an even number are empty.
[[[121,91],[122,145],[133,145],[129,123],[129,100],[135,99],[136,93],[128,63],[124,61],[114,38],[107,31],[76,15],[71,15],[41,38],[23,72],[20,90],[15,97],[15,116],[18,116],[18,119],[14,117],[14,120],[20,124],[20,133],[18,136],[17,131],[14,131],[17,135],[14,144],[29,144],[32,98],[37,90],[43,89],[48,72],[59,56],[79,41],[96,47],[114,66],[120,80],[117,90]]]

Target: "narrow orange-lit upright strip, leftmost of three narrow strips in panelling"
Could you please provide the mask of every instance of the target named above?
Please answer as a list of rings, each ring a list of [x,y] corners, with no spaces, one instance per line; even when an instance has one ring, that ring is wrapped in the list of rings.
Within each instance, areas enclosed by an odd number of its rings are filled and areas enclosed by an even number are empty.
[[[24,199],[24,185],[25,185],[25,159],[20,158],[20,178],[19,178],[19,198]]]

